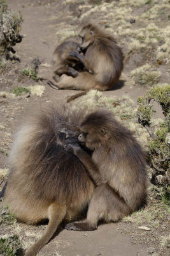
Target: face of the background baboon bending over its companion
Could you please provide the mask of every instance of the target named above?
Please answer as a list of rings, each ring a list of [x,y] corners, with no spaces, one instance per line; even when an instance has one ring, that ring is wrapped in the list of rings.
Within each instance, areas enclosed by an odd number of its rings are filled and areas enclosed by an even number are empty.
[[[94,42],[94,31],[91,28],[83,28],[79,34],[81,37],[81,44],[78,45],[78,49],[85,53],[87,47]]]

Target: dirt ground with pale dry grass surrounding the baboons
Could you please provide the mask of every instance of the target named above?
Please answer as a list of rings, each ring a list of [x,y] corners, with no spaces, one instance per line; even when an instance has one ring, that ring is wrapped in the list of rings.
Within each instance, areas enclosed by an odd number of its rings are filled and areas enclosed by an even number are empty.
[[[136,108],[136,101],[139,96],[143,96],[148,89],[147,86],[136,84],[131,70],[135,70],[142,65],[148,64],[152,67],[153,72],[159,72],[155,83],[168,83],[167,70],[169,61],[164,56],[161,65],[157,63],[159,58],[159,47],[163,40],[166,44],[167,34],[163,26],[167,20],[167,3],[168,1],[157,1],[164,4],[158,9],[159,16],[154,13],[155,17],[146,19],[143,13],[149,13],[149,4],[141,4],[138,1],[132,1],[137,5],[125,5],[128,1],[106,1],[101,5],[96,4],[97,1],[57,1],[57,0],[8,0],[8,7],[11,10],[22,12],[24,23],[22,24],[21,35],[26,35],[22,42],[15,46],[16,55],[20,58],[20,63],[6,63],[6,69],[0,77],[0,168],[8,170],[8,154],[10,151],[10,143],[13,140],[13,133],[17,129],[20,120],[25,113],[36,111],[45,104],[54,102],[57,104],[60,100],[66,101],[68,95],[75,92],[72,90],[53,90],[46,84],[46,79],[51,79],[52,71],[50,61],[55,47],[66,40],[74,38],[78,35],[80,25],[84,22],[92,21],[101,24],[106,29],[114,32],[118,44],[122,47],[125,54],[125,67],[120,83],[111,91],[103,92],[102,97],[117,97],[126,95],[132,99],[132,108]],[[102,1],[101,1],[102,2]],[[110,4],[113,2],[115,6]],[[119,3],[120,2],[120,3]],[[141,1],[139,1],[141,2]],[[121,5],[122,3],[122,5]],[[119,4],[119,5],[118,5]],[[154,7],[152,5],[152,7]],[[116,11],[119,8],[119,11]],[[155,8],[155,7],[154,7]],[[108,12],[108,10],[110,10]],[[154,9],[155,10],[155,9]],[[115,13],[114,13],[115,12]],[[126,13],[127,12],[127,13]],[[120,15],[115,24],[114,15]],[[136,19],[134,24],[129,20]],[[143,21],[142,21],[143,19]],[[122,23],[121,23],[122,22]],[[142,22],[143,25],[141,24]],[[149,30],[148,23],[150,23]],[[153,24],[157,28],[155,31]],[[148,30],[146,29],[148,28]],[[139,38],[145,36],[148,42],[143,43],[139,40],[136,42],[135,33],[139,28]],[[145,28],[143,32],[142,28]],[[163,29],[164,28],[164,29]],[[129,29],[129,30],[128,30]],[[150,38],[147,31],[153,33]],[[155,42],[157,33],[157,42]],[[144,34],[143,34],[144,33]],[[131,35],[129,35],[131,34]],[[140,37],[141,36],[141,37]],[[153,40],[154,39],[154,40]],[[150,40],[150,41],[149,41]],[[166,55],[166,51],[164,52]],[[161,54],[160,54],[161,55]],[[31,61],[38,57],[41,65],[38,70],[38,81],[32,80],[30,77],[21,75],[24,68],[30,67]],[[162,58],[162,56],[160,56]],[[137,70],[138,71],[138,70]],[[30,88],[31,95],[13,94],[15,86],[25,86]],[[29,87],[30,86],[30,87]],[[4,93],[4,95],[3,95]],[[81,99],[79,99],[81,104]],[[156,106],[156,105],[155,105]],[[127,106],[128,108],[128,106]],[[156,117],[161,118],[158,106]],[[4,179],[5,181],[5,179]],[[1,188],[4,185],[1,183]],[[147,224],[147,223],[146,223]],[[164,223],[159,223],[163,228],[163,235],[167,234],[167,227],[163,227]],[[24,246],[29,246],[38,236],[43,233],[44,225],[38,227],[29,227],[24,224],[15,223],[4,229],[0,228],[1,234],[13,234],[17,232],[21,237]],[[93,232],[75,232],[68,230],[60,230],[59,234],[53,237],[50,243],[46,244],[38,255],[57,255],[57,256],[146,256],[146,255],[169,255],[168,248],[162,249],[159,245],[158,237],[161,234],[159,230],[151,231],[139,230],[133,223],[110,223],[99,225],[99,228]]]

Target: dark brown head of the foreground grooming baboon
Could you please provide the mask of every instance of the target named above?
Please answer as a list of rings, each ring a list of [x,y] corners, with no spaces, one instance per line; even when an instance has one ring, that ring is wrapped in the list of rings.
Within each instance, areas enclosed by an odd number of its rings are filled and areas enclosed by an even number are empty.
[[[113,115],[110,111],[97,110],[86,116],[80,126],[81,134],[78,140],[90,150],[97,149],[101,145],[108,145],[114,133]]]

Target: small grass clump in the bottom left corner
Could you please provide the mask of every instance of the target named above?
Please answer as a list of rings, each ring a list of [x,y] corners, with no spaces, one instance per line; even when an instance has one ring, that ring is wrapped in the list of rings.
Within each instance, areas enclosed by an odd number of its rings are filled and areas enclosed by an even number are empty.
[[[0,238],[1,256],[22,256],[24,250],[17,235]]]

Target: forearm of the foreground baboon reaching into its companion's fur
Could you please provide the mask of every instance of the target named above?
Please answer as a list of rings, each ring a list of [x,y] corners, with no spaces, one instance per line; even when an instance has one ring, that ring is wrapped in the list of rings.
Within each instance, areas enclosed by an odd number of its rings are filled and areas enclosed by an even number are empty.
[[[99,170],[96,164],[92,161],[91,157],[81,148],[76,149],[74,154],[80,159],[81,163],[84,164],[90,178],[94,181],[94,184],[96,184],[96,186],[103,184],[104,182],[101,178]]]

